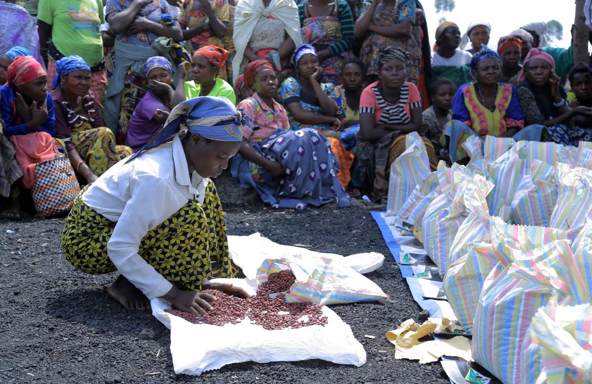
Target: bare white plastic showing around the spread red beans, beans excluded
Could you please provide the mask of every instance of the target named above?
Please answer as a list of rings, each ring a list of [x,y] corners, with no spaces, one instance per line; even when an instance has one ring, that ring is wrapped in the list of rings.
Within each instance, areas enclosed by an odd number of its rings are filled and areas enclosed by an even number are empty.
[[[212,281],[219,281],[213,279]],[[224,279],[253,293],[243,279]],[[248,319],[223,327],[191,324],[166,313],[170,308],[162,299],[152,299],[152,314],[170,329],[170,354],[175,373],[201,375],[226,364],[255,361],[299,361],[322,359],[360,367],[366,363],[366,351],[353,336],[348,324],[331,309],[323,307],[327,324],[298,329],[269,331]]]

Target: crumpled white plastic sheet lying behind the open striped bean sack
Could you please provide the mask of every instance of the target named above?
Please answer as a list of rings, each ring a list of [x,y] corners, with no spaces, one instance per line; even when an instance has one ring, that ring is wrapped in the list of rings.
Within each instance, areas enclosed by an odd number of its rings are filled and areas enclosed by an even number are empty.
[[[234,264],[238,265],[247,279],[255,280],[257,270],[264,260],[292,255],[307,255],[330,258],[352,268],[358,273],[369,273],[382,267],[384,255],[368,252],[343,257],[338,254],[315,252],[303,247],[281,245],[253,233],[249,236],[228,236],[228,247]]]

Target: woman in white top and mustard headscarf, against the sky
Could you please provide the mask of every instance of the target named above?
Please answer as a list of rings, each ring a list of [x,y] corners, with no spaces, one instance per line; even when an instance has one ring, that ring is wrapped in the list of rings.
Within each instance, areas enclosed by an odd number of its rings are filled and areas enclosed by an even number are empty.
[[[458,49],[461,30],[452,21],[444,21],[436,29],[436,44],[432,57],[432,81],[450,79],[460,87],[471,81],[471,53]]]

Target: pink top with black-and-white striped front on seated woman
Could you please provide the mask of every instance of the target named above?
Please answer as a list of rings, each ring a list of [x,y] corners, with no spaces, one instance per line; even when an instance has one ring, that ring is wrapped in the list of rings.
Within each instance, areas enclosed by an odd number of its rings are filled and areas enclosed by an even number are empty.
[[[381,111],[382,114],[377,124],[408,124],[411,122],[410,115],[405,110],[405,105],[408,104],[408,110],[422,106],[422,100],[419,96],[419,91],[414,84],[405,82],[401,87],[401,96],[397,104],[388,104],[381,93],[378,91],[379,82],[369,85],[362,92],[360,98],[360,113],[377,113]],[[414,88],[411,88],[410,85]],[[366,94],[366,95],[365,95]],[[365,97],[366,96],[366,97]],[[374,100],[368,100],[374,99]],[[416,100],[411,100],[416,99]],[[374,106],[370,106],[374,105]]]

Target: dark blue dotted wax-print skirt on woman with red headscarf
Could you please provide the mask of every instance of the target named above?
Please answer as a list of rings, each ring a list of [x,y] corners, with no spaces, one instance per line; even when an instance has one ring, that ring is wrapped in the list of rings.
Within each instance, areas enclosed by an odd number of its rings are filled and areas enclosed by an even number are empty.
[[[279,161],[285,177],[277,180],[269,172],[237,153],[231,173],[242,188],[254,188],[261,200],[274,208],[304,209],[308,204],[321,206],[336,202],[350,205],[349,196],[337,178],[339,161],[329,139],[316,130],[297,131],[278,128],[274,135],[253,148],[271,161]]]

